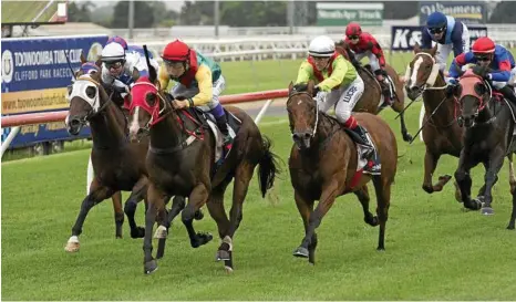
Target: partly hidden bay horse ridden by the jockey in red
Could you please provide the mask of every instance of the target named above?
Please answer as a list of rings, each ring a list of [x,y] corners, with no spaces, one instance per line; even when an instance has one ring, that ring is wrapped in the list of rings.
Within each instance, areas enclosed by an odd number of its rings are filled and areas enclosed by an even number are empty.
[[[349,45],[344,41],[339,41],[336,43],[336,50],[338,53],[342,54],[348,61],[353,62],[352,59],[354,54],[350,50]],[[353,112],[368,112],[374,115],[378,115],[384,107],[384,104],[380,104],[382,101],[382,87],[380,83],[376,81],[376,77],[372,73],[370,65],[365,66],[355,66],[357,72],[359,73],[360,77],[364,82],[365,90],[363,91],[362,96],[359,98],[357,104],[354,105]],[[385,64],[385,71],[391,79],[393,84],[393,100],[391,100],[391,108],[394,112],[400,114],[400,126],[401,126],[401,135],[403,140],[411,142],[412,135],[406,129],[405,124],[405,114],[404,114],[404,106],[405,106],[405,94],[403,91],[403,82],[400,80],[399,74],[389,64]]]

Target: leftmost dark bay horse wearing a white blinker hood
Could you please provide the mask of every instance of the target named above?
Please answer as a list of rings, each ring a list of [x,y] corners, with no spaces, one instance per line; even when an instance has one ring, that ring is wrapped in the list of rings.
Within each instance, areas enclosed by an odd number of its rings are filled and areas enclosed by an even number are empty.
[[[90,209],[110,197],[115,209],[116,238],[122,238],[124,211],[131,227],[131,237],[143,238],[145,235],[144,228],[136,225],[134,216],[137,202],[146,198],[145,157],[148,139],[137,144],[128,142],[126,116],[112,100],[113,93],[109,95],[101,81],[101,61],[86,62],[84,56],[81,61],[78,79],[69,86],[70,110],[65,124],[71,135],[78,135],[86,123],[90,124],[93,139],[91,158],[95,177],[87,196],[82,201],[72,228],[72,236],[66,242],[65,250],[69,252],[76,252],[80,249],[79,236],[82,233],[82,226]],[[131,191],[124,211],[122,211],[121,190]],[[184,198],[176,197],[171,216],[177,215],[184,208]],[[200,219],[202,215],[197,214],[196,218]],[[193,247],[205,243],[194,241],[192,241]]]

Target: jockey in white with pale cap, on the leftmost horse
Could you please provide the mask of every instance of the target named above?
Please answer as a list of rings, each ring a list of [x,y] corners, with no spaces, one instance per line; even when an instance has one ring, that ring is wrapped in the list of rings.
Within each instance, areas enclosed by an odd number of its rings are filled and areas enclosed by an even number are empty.
[[[131,91],[132,84],[140,76],[148,76],[148,69],[144,55],[136,51],[126,51],[127,43],[125,43],[125,40],[120,37],[116,38],[117,40],[109,42],[102,50],[102,82],[112,85],[125,98]],[[149,61],[158,72],[159,65],[157,62],[154,59]]]

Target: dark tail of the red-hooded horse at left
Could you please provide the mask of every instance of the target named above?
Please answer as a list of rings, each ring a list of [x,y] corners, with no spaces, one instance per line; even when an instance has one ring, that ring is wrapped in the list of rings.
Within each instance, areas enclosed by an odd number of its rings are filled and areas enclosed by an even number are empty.
[[[260,186],[261,197],[265,198],[267,190],[272,188],[277,174],[280,174],[278,167],[278,156],[270,150],[271,142],[267,136],[262,140],[264,154],[258,163],[258,183]]]

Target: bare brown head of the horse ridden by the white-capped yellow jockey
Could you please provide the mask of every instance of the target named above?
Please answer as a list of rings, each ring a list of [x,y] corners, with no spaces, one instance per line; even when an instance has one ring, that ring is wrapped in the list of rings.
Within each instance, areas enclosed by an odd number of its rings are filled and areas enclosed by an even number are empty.
[[[299,148],[310,148],[319,123],[319,108],[312,97],[313,85],[313,81],[309,81],[308,84],[289,85],[287,112],[292,139]]]

